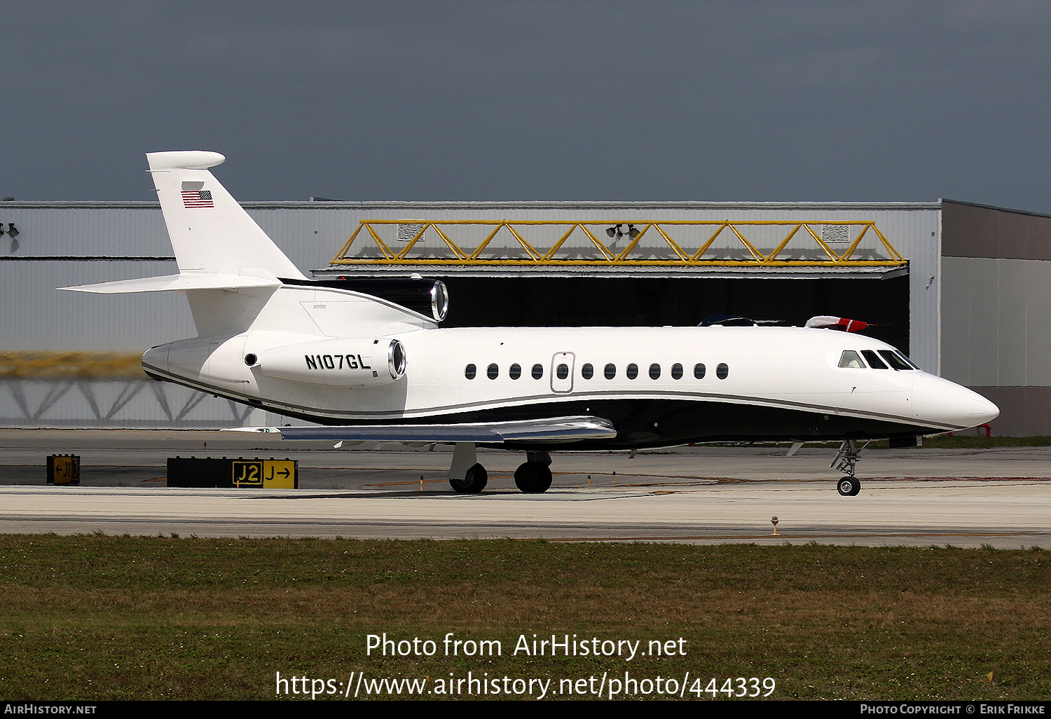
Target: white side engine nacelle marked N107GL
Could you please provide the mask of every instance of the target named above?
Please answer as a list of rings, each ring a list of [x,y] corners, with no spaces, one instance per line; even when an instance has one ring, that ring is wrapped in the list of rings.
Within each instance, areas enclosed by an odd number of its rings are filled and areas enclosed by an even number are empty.
[[[265,349],[257,354],[248,352],[245,364],[268,377],[366,387],[399,379],[405,374],[406,355],[405,346],[397,340],[329,337]]]

